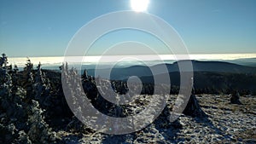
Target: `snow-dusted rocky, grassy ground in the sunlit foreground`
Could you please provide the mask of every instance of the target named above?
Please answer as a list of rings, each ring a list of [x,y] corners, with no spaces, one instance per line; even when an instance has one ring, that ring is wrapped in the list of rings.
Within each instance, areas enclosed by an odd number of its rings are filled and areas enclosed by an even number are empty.
[[[172,96],[171,100],[174,100],[175,95]],[[196,98],[207,118],[181,115],[176,122],[170,123],[170,100],[153,124],[131,134],[94,132],[74,135],[60,131],[58,135],[67,143],[256,143],[255,96],[241,96],[243,105],[230,104],[229,95],[196,95]]]

